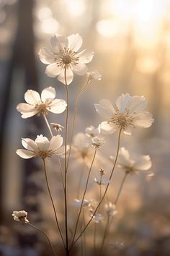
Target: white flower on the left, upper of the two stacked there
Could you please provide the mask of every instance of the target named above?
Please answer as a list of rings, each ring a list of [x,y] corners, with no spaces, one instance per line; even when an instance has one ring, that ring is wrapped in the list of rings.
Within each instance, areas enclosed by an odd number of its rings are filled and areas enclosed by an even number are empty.
[[[27,90],[24,93],[24,100],[27,103],[19,103],[17,111],[26,119],[35,114],[47,114],[48,111],[54,114],[63,113],[66,109],[66,101],[55,98],[55,89],[52,87],[42,90],[41,95],[35,90]]]

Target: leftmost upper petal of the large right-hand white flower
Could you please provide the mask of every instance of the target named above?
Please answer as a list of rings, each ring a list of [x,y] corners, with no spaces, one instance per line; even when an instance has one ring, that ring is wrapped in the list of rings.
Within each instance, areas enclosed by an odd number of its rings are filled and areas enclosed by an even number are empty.
[[[97,113],[106,119],[111,119],[115,114],[115,108],[108,100],[103,99],[99,101],[99,104],[94,104],[94,106],[97,110]]]

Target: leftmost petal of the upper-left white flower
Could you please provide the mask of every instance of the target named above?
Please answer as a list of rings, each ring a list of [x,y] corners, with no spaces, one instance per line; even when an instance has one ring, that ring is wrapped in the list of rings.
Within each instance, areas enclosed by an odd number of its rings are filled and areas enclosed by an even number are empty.
[[[17,111],[19,111],[22,114],[22,118],[28,118],[31,116],[34,116],[37,114],[37,109],[35,109],[35,106],[32,106],[27,103],[19,103],[17,105]]]

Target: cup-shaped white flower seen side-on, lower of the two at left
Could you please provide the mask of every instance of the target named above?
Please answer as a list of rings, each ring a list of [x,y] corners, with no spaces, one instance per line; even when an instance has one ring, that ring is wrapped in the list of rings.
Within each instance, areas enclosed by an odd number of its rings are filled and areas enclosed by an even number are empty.
[[[65,153],[65,147],[62,146],[63,137],[61,135],[53,136],[50,141],[42,135],[37,135],[35,141],[25,138],[22,139],[22,145],[25,149],[19,149],[16,153],[24,159],[37,156],[45,159],[50,158],[52,155],[63,155]]]

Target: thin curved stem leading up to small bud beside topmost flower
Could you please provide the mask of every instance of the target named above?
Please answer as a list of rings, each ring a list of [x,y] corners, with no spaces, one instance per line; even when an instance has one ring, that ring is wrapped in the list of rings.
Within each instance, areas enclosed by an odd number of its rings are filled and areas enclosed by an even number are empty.
[[[67,160],[67,168],[68,168],[68,163],[71,155],[71,147],[72,147],[72,142],[73,142],[73,134],[74,134],[74,128],[75,128],[75,121],[76,121],[76,114],[78,111],[78,106],[79,106],[79,100],[80,100],[80,95],[82,91],[86,88],[86,85],[88,85],[89,80],[87,80],[86,84],[79,90],[79,93],[76,95],[76,103],[75,103],[75,108],[74,108],[74,114],[73,114],[73,124],[71,128],[71,142],[70,142],[70,148],[68,151],[68,160]]]

